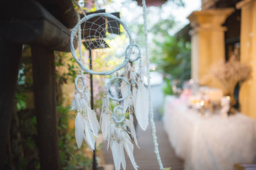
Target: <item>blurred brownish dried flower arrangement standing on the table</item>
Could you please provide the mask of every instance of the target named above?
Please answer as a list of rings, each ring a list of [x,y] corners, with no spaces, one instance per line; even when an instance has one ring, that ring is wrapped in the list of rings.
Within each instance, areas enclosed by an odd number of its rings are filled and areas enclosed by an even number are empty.
[[[231,55],[228,62],[220,62],[214,65],[210,72],[223,85],[225,96],[231,97],[231,104],[235,104],[233,93],[236,84],[242,83],[251,77],[252,69],[247,64],[238,60],[238,55]]]

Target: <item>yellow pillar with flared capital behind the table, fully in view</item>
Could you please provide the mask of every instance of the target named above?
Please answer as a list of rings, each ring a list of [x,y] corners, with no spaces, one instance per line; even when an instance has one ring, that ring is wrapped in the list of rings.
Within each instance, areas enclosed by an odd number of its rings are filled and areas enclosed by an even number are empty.
[[[209,77],[213,64],[225,60],[225,23],[233,13],[233,8],[218,8],[193,11],[188,19],[191,21],[191,77],[199,84],[221,88],[220,82]]]

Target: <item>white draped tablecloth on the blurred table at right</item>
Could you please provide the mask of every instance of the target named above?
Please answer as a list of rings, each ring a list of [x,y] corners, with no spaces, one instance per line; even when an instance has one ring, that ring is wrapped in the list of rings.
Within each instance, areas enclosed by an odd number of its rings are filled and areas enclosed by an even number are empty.
[[[186,170],[233,170],[256,158],[256,121],[241,113],[199,117],[183,101],[167,96],[164,128]]]

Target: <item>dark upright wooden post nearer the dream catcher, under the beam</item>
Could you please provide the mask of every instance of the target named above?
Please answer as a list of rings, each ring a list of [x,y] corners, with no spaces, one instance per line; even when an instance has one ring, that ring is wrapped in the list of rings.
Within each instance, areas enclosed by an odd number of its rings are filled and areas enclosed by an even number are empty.
[[[38,149],[41,169],[60,169],[54,51],[32,47]]]

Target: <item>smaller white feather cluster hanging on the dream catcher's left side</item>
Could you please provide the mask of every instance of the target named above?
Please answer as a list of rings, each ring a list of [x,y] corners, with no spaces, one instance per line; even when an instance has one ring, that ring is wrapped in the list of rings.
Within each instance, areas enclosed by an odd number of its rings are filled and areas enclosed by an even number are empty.
[[[83,79],[82,79],[83,81]],[[90,149],[95,149],[95,137],[100,130],[97,115],[90,107],[90,91],[85,89],[80,92],[75,91],[75,97],[71,103],[70,110],[76,111],[75,118],[75,140],[78,148],[85,140]]]

